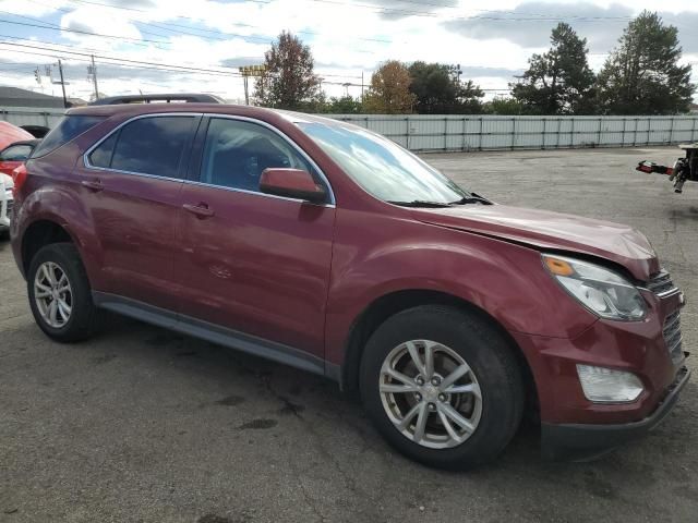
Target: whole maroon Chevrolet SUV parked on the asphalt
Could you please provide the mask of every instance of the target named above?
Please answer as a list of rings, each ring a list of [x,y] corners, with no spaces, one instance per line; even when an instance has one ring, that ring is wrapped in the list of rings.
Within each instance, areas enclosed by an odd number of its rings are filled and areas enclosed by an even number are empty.
[[[552,455],[658,424],[688,380],[682,292],[629,227],[494,205],[347,123],[218,104],[70,110],[15,175],[39,327],[108,309],[359,391],[423,463]]]

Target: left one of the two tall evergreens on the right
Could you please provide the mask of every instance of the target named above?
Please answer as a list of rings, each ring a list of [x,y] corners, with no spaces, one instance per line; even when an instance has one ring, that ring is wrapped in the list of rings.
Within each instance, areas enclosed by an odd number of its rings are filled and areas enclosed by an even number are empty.
[[[512,94],[534,114],[587,114],[592,111],[593,71],[587,61],[587,39],[568,24],[551,34],[551,48],[533,54]]]

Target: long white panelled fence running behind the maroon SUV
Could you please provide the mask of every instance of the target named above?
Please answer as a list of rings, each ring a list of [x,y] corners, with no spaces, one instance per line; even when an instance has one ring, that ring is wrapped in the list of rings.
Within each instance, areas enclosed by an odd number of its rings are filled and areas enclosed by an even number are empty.
[[[0,109],[15,125],[52,127],[63,111]],[[327,114],[326,114],[327,115]],[[496,117],[339,114],[411,150],[636,147],[698,142],[698,114],[681,117]]]

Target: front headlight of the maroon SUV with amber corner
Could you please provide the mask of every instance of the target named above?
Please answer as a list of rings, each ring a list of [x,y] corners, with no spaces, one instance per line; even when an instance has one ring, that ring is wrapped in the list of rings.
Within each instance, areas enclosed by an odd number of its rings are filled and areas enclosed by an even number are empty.
[[[543,255],[550,273],[585,307],[603,318],[639,320],[647,304],[637,288],[600,265],[562,256]]]

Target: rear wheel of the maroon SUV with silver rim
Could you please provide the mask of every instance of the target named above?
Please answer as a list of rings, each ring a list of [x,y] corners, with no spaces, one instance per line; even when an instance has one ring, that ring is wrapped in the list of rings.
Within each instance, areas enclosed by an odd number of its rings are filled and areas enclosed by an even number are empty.
[[[62,305],[56,307],[53,325],[51,325],[49,301],[56,301],[52,296],[44,297],[40,294],[47,292],[43,289],[50,287],[49,278],[46,270],[52,270],[57,276],[56,280],[61,279],[64,275],[68,281],[69,290],[61,294],[63,303],[70,306],[70,313],[67,314]],[[41,270],[38,280],[41,285],[38,288],[37,272]],[[55,289],[56,292],[64,288]],[[39,299],[37,300],[37,293]],[[41,330],[51,339],[62,342],[76,342],[89,338],[98,327],[99,314],[92,301],[92,290],[87,273],[80,259],[77,248],[72,243],[53,243],[41,247],[29,264],[27,273],[27,294],[29,296],[29,306],[34,319]],[[60,302],[60,301],[59,301]]]

